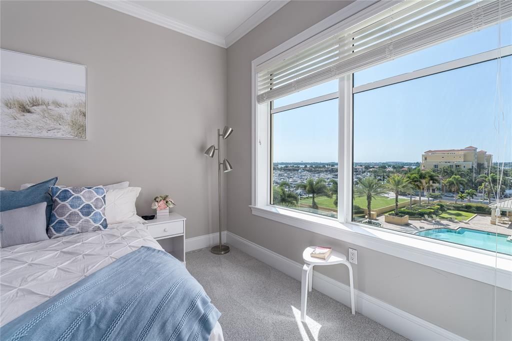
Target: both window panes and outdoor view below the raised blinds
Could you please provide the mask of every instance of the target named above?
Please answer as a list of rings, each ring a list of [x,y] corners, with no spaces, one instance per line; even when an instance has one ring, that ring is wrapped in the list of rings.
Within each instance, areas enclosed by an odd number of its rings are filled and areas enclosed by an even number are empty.
[[[511,32],[508,20],[271,101],[270,204],[512,255],[493,208],[512,196]]]

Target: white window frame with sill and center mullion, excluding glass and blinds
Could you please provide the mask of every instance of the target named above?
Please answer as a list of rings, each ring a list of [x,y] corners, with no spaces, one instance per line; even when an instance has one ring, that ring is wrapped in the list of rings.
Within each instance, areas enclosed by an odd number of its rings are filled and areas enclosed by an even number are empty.
[[[351,4],[354,6],[348,5],[345,9],[338,11],[312,28],[252,61],[252,166],[251,205],[249,205],[252,214],[512,291],[512,281],[510,281],[510,278],[512,278],[512,256],[435,239],[423,238],[421,236],[352,221],[353,95],[358,92],[384,87],[397,82],[425,77],[435,73],[496,59],[496,57],[491,58],[492,56],[503,57],[510,55],[512,54],[512,47],[510,46],[502,48],[501,50],[492,50],[411,73],[362,84],[358,87],[353,87],[352,74],[339,78],[338,198],[340,198],[339,202],[343,202],[343,204],[338,205],[338,219],[335,220],[333,218],[310,214],[309,212],[301,212],[290,208],[271,205],[271,102],[258,104],[256,101],[258,89],[257,72],[264,68],[272,58],[278,55],[282,58],[283,53],[293,53],[293,51],[296,51],[297,46],[304,48],[305,42],[311,41],[311,44],[314,44],[316,40],[325,37],[325,27],[332,27],[334,20],[337,20],[337,23],[342,21],[340,24],[345,23],[346,25],[351,25],[351,23],[354,23],[356,20],[369,17],[375,14],[376,11],[382,11],[385,5],[383,3],[387,2],[377,2],[368,8],[356,11],[362,6],[362,3],[363,2],[356,1]],[[389,3],[386,5],[389,6]],[[356,12],[352,13],[353,11]],[[318,38],[318,35],[321,37]],[[505,49],[509,50],[505,51]],[[501,52],[501,55],[497,54],[499,52]],[[297,103],[291,105],[296,104]],[[283,106],[277,109],[279,111],[274,112],[284,111],[282,109],[286,107],[287,106]]]

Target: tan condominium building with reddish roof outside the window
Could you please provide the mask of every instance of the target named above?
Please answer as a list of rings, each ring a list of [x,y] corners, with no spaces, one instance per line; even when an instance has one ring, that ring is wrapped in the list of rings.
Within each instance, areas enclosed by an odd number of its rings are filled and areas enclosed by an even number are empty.
[[[421,155],[421,169],[450,168],[474,170],[483,174],[490,167],[493,156],[477,147],[468,146],[463,149],[444,149],[426,151]]]

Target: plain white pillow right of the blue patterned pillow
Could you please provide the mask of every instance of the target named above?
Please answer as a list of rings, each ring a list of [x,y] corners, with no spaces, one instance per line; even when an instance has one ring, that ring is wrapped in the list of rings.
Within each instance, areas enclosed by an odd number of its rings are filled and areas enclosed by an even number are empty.
[[[106,192],[105,217],[109,224],[144,222],[144,219],[137,216],[135,209],[135,200],[139,196],[140,189],[140,187],[126,187]]]

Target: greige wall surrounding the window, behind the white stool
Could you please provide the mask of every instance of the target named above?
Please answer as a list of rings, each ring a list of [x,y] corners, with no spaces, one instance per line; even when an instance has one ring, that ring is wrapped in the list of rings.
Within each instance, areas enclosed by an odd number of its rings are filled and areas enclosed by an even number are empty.
[[[354,266],[357,289],[463,337],[490,340],[493,286],[251,215],[251,60],[347,4],[290,2],[228,48],[228,124],[237,132],[228,143],[228,157],[236,167],[228,176],[228,230],[296,262],[302,262],[302,251],[308,245],[332,245],[340,250],[354,247],[358,250],[358,265]],[[319,271],[348,284],[342,266]],[[510,339],[510,291],[498,289],[497,301],[497,337]]]

